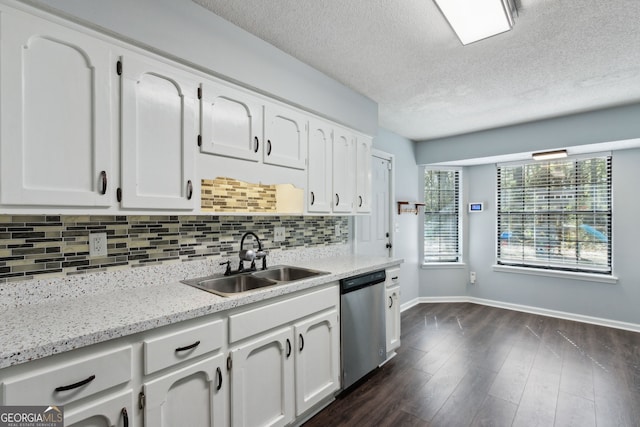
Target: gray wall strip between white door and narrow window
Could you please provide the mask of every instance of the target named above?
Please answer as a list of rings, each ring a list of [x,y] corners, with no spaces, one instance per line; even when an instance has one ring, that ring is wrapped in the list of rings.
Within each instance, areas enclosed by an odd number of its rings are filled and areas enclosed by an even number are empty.
[[[406,138],[396,135],[385,129],[379,129],[378,135],[373,139],[373,147],[393,154],[395,157],[395,206],[396,200],[420,200],[418,165],[416,165],[414,143]],[[395,210],[394,210],[395,211]],[[393,242],[395,256],[403,258],[401,266],[401,293],[400,302],[405,303],[418,298],[418,271],[420,268],[419,243],[421,240],[416,233],[419,229],[419,216],[403,214],[395,211],[393,224],[397,232],[394,232]]]

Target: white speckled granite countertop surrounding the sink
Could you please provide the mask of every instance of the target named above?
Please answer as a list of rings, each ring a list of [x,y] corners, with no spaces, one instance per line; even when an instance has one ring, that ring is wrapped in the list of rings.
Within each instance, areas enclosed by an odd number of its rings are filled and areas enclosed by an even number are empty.
[[[296,262],[328,275],[221,297],[178,281],[87,292],[73,298],[9,307],[0,314],[0,368],[160,326],[310,289],[345,277],[400,264],[401,259],[330,257]]]

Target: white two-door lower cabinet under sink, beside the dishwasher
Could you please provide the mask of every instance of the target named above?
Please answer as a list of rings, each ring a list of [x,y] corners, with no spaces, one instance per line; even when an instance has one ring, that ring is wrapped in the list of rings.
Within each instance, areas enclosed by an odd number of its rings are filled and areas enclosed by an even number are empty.
[[[231,425],[290,424],[340,388],[339,297],[335,284],[229,317]]]

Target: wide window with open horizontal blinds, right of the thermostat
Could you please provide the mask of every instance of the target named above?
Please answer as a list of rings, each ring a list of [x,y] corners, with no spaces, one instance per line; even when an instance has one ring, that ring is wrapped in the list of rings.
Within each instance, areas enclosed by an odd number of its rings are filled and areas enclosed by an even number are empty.
[[[498,264],[611,274],[611,156],[498,166]]]

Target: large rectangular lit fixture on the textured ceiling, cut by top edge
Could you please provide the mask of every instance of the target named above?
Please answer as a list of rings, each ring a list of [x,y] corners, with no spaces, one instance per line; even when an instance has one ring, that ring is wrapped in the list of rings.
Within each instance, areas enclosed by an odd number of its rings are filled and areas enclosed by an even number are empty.
[[[513,0],[433,0],[463,45],[509,31]]]

